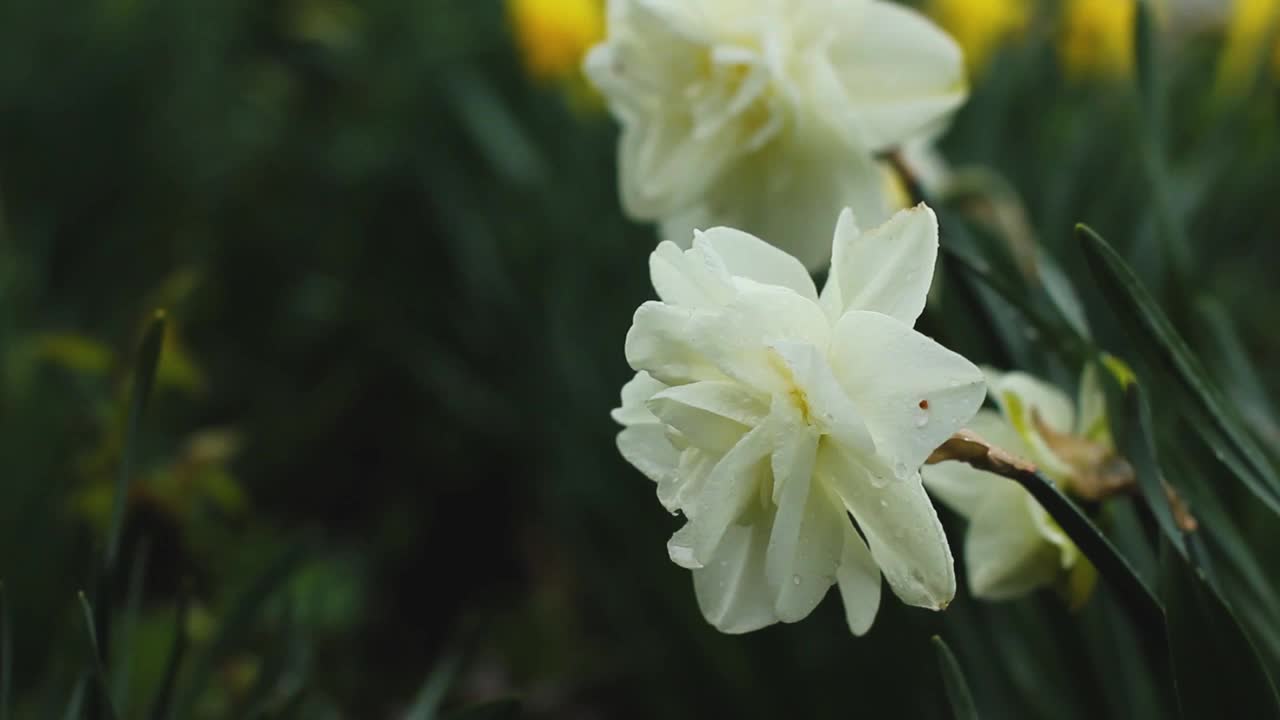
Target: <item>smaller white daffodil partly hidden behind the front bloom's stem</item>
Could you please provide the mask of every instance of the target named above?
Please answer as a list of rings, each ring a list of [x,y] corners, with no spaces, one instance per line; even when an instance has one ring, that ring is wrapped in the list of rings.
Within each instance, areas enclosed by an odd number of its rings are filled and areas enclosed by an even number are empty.
[[[969,429],[1070,489],[1084,474],[1106,471],[1114,457],[1096,378],[1092,366],[1085,370],[1076,411],[1056,387],[1024,373],[988,370],[1000,410],[979,410]],[[1021,486],[956,461],[922,473],[931,495],[969,519],[964,559],[975,597],[1009,600],[1056,584],[1070,591],[1073,603],[1084,600],[1093,580],[1088,560]]]

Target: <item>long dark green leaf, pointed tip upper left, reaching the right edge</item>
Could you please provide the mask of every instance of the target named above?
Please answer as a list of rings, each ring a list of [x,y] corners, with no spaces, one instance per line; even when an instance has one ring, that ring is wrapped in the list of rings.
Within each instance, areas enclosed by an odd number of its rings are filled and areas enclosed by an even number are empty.
[[[1267,506],[1280,512],[1280,480],[1275,477],[1275,468],[1266,460],[1231,405],[1210,382],[1199,360],[1172,323],[1138,282],[1129,265],[1101,236],[1085,225],[1076,225],[1076,237],[1116,314],[1128,319],[1126,324],[1140,333],[1134,345],[1153,365],[1171,370],[1185,384],[1216,428],[1244,456],[1248,468],[1236,466],[1240,480]]]

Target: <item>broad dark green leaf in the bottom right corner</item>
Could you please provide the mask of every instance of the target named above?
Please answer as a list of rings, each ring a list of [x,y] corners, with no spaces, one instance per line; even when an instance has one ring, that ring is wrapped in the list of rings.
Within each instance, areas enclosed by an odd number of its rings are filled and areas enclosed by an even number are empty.
[[[1196,553],[1189,538],[1189,555]],[[1280,717],[1280,696],[1253,642],[1202,574],[1167,543],[1161,592],[1183,717]]]

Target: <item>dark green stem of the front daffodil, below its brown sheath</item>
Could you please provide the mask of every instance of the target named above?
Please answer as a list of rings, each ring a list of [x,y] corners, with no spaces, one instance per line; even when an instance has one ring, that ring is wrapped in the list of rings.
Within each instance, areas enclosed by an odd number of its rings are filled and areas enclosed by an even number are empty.
[[[1149,647],[1164,644],[1164,609],[1120,551],[1102,534],[1052,480],[1039,473],[1020,473],[1018,482],[1032,493],[1050,516],[1093,562],[1098,574],[1116,593],[1143,641]]]

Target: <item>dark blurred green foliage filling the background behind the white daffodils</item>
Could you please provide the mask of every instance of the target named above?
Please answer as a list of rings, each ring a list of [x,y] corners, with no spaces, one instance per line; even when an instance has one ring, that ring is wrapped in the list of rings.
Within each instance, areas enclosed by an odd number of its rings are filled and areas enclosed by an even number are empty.
[[[1201,519],[1212,592],[1276,676],[1276,516],[1074,231],[1119,249],[1274,474],[1275,86],[1215,92],[1213,33],[1155,38],[1143,96],[1068,81],[1053,38],[1006,46],[941,145],[973,181],[940,199],[943,246],[1007,292],[943,263],[922,329],[1068,388],[1082,336],[1132,361],[1152,471]],[[534,717],[947,717],[933,634],[984,717],[1171,716],[1161,653],[1106,584],[1079,612],[1052,593],[886,602],[861,639],[835,600],[748,637],[703,621],[663,547],[677,523],[608,420],[654,237],[618,209],[614,133],[526,79],[497,1],[0,4],[12,716],[105,716],[81,589],[115,607],[122,717],[166,694],[198,717],[436,717],[512,696]],[[100,587],[156,307],[170,327]],[[1156,582],[1138,498],[1087,510],[1148,587],[1199,582]]]

